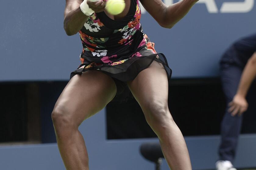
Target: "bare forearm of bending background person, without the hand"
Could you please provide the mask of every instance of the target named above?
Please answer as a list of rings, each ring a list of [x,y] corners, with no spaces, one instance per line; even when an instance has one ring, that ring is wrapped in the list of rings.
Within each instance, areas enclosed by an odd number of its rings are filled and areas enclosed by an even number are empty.
[[[251,83],[253,82],[255,77],[256,77],[256,53],[254,53],[254,55],[248,60],[244,68],[236,94],[246,97],[247,92],[251,86]]]

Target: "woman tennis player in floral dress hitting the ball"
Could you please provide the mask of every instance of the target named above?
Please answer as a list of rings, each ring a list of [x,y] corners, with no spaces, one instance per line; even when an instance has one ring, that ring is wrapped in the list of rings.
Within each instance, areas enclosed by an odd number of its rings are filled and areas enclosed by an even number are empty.
[[[140,2],[159,25],[172,28],[197,0],[169,6],[161,0]],[[125,0],[125,4],[121,14],[111,15],[105,0],[66,0],[64,29],[69,36],[79,32],[83,51],[81,65],[71,73],[52,112],[62,160],[68,170],[89,169],[78,127],[129,87],[157,134],[169,167],[191,170],[186,143],[167,103],[171,69],[142,31],[139,0]]]

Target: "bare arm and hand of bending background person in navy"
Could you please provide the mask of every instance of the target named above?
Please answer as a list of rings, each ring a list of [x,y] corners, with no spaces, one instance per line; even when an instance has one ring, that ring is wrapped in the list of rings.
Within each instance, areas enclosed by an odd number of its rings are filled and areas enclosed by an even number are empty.
[[[232,116],[236,114],[243,114],[247,108],[248,103],[246,101],[247,92],[251,86],[251,83],[256,77],[256,52],[248,60],[244,71],[242,73],[239,87],[233,100],[229,103],[229,112],[232,112]]]

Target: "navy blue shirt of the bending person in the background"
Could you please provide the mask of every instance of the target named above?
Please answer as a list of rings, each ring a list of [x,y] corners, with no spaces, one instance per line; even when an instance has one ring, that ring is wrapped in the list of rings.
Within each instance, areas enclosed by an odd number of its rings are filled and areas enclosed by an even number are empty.
[[[223,54],[222,63],[233,63],[244,67],[249,58],[256,52],[256,34],[244,37],[232,44]]]

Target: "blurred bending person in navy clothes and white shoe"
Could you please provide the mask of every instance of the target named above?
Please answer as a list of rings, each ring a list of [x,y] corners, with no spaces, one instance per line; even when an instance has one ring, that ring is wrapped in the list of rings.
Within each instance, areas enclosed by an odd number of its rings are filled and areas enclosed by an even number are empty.
[[[233,43],[222,56],[220,66],[227,106],[221,124],[220,158],[216,162],[216,169],[236,170],[232,162],[236,155],[243,113],[248,108],[246,96],[250,87],[256,88],[255,85],[251,86],[256,77],[256,34]]]

